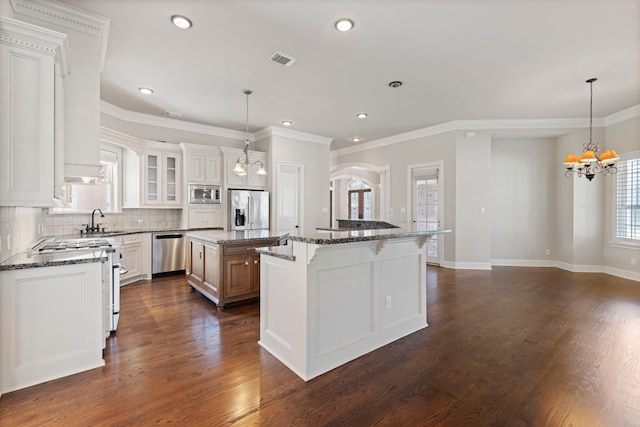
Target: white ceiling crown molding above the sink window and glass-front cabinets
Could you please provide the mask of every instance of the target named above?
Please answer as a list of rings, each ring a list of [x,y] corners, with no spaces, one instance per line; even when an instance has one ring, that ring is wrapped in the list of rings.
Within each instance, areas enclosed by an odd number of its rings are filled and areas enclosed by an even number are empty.
[[[100,112],[125,122],[159,126],[185,132],[196,132],[204,135],[219,136],[222,138],[240,139],[242,141],[245,140],[245,133],[242,131],[192,123],[184,120],[172,119],[170,117],[159,117],[151,114],[136,113],[134,111],[124,110],[102,100],[100,101]],[[253,140],[253,135],[249,134],[249,141]]]

